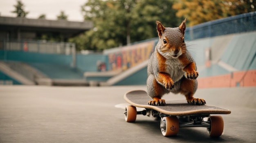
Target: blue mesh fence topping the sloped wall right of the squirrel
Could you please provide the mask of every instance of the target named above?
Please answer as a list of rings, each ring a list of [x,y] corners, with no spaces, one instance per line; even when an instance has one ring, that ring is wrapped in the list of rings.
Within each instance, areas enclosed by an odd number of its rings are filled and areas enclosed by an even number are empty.
[[[185,39],[191,41],[194,39],[255,30],[256,12],[254,11],[188,27],[186,28]]]

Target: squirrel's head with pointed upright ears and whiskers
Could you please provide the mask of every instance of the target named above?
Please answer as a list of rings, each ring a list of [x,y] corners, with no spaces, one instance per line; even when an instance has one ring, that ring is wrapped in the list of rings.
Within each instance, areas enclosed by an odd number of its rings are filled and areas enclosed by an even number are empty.
[[[156,48],[165,58],[177,58],[186,51],[184,42],[185,22],[186,19],[183,20],[179,27],[175,28],[164,27],[161,22],[156,22],[159,36]]]

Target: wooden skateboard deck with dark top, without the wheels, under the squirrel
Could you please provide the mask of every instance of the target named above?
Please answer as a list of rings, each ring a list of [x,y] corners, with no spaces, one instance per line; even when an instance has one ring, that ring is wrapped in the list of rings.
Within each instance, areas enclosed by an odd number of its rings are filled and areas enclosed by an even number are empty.
[[[211,105],[193,105],[188,104],[186,100],[166,101],[165,106],[148,105],[152,100],[143,90],[130,91],[124,95],[124,100],[132,106],[141,108],[150,108],[160,113],[173,116],[186,116],[197,114],[230,114],[231,111]]]

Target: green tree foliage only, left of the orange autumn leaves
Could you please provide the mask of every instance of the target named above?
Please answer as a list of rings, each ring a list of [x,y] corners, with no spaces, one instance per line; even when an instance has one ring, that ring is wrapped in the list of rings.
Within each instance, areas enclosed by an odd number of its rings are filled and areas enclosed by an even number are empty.
[[[88,0],[82,8],[94,28],[70,39],[79,50],[103,50],[157,37],[155,21],[176,27],[182,19],[171,9],[173,0]]]

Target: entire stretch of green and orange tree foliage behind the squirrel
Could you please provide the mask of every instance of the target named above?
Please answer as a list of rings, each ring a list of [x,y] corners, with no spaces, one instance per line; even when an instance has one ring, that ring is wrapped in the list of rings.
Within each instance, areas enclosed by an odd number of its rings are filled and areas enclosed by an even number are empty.
[[[78,50],[103,50],[157,37],[155,21],[176,27],[187,18],[192,26],[255,11],[256,0],[88,0],[84,20],[94,28],[70,39]]]

